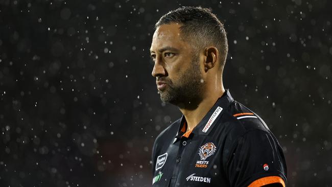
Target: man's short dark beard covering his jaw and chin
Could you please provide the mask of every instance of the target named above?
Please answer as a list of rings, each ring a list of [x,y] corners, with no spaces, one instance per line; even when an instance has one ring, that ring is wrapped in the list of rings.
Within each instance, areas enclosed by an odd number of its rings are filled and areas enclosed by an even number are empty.
[[[175,82],[168,84],[168,88],[160,91],[160,99],[164,103],[171,103],[180,108],[196,108],[202,100],[204,81],[199,66],[199,55],[193,54],[189,68],[181,73]]]

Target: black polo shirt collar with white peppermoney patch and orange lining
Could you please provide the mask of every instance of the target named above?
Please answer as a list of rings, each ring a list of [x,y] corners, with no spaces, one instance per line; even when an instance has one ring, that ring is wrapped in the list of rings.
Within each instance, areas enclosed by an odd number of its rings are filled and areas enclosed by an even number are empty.
[[[200,123],[198,123],[198,125],[193,129],[192,133],[200,135],[208,135],[232,101],[233,98],[230,95],[229,90],[226,89],[224,94],[220,98],[218,98],[215,105],[211,107],[211,109],[205,114],[204,118],[200,121]],[[178,133],[175,136],[176,139],[174,140],[174,143],[177,141],[177,139],[181,138],[181,136],[185,132],[185,129],[186,129],[186,120],[184,115],[182,114]]]

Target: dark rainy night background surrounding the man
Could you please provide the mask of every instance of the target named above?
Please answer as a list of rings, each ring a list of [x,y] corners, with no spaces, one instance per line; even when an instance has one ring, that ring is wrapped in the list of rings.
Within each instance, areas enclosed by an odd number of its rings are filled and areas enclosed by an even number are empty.
[[[278,137],[288,186],[332,186],[326,0],[0,0],[0,186],[151,186],[181,117],[151,76],[153,26],[187,5],[224,22],[225,88]]]

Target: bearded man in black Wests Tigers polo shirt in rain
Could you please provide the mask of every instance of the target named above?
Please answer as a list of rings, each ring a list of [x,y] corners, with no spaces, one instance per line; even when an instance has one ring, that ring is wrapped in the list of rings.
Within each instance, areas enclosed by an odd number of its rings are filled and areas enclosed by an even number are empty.
[[[228,45],[216,15],[183,7],[155,29],[152,76],[161,101],[183,115],[155,140],[153,186],[285,186],[277,139],[223,87]]]

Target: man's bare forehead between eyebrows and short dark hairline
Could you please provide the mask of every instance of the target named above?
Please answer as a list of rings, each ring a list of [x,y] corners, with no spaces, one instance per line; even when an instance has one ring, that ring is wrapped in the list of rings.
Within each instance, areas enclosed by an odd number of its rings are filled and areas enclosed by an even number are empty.
[[[183,49],[188,44],[181,37],[180,24],[167,24],[159,26],[153,34],[151,43],[151,52],[156,52],[165,47]]]

